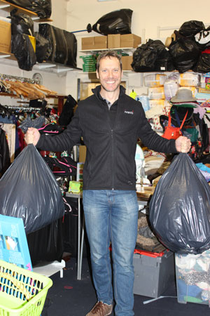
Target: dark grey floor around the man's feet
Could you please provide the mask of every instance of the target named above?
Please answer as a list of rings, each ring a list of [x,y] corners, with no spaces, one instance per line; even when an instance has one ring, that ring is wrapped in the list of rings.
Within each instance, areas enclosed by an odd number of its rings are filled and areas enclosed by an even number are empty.
[[[96,302],[92,285],[90,267],[87,258],[83,258],[81,280],[77,279],[76,258],[69,258],[64,268],[64,276],[59,272],[51,276],[52,287],[48,291],[42,316],[85,316]],[[144,284],[142,284],[144,286]],[[210,315],[208,305],[181,304],[176,298],[176,282],[172,282],[162,296],[151,297],[134,295],[134,313],[136,316],[206,316]],[[172,297],[169,297],[172,296]],[[111,314],[113,316],[114,313]]]

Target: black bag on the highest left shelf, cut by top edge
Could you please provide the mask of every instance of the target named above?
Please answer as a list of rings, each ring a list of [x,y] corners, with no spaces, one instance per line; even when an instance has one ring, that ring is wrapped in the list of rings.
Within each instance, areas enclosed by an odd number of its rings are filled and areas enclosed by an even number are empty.
[[[36,13],[39,18],[50,18],[52,13],[51,0],[8,0],[8,2]]]

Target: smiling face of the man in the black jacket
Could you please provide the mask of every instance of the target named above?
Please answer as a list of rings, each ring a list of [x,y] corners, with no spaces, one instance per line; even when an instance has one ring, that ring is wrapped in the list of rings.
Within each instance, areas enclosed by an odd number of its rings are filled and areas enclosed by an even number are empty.
[[[116,57],[106,57],[100,60],[97,78],[105,91],[116,91],[121,82],[123,72],[120,70],[120,61]]]

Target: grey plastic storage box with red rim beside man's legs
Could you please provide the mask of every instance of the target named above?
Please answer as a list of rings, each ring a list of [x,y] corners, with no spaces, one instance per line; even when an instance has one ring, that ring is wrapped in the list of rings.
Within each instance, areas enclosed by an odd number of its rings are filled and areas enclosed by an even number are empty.
[[[175,282],[174,253],[135,252],[134,294],[157,298]]]

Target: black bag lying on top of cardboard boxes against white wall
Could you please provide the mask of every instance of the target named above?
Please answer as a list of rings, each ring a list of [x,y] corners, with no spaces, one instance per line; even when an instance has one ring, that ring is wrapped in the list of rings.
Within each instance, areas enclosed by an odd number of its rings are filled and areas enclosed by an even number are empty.
[[[102,35],[131,34],[132,13],[127,8],[107,13],[92,25],[92,30]]]

